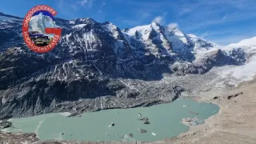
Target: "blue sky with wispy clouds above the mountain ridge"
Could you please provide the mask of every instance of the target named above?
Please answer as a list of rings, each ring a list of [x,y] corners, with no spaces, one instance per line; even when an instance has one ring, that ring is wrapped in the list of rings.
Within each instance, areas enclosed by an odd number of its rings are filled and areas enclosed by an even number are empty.
[[[121,29],[155,19],[222,46],[256,36],[255,0],[8,0],[1,2],[0,12],[24,17],[39,4],[52,6],[58,18],[89,17]]]

